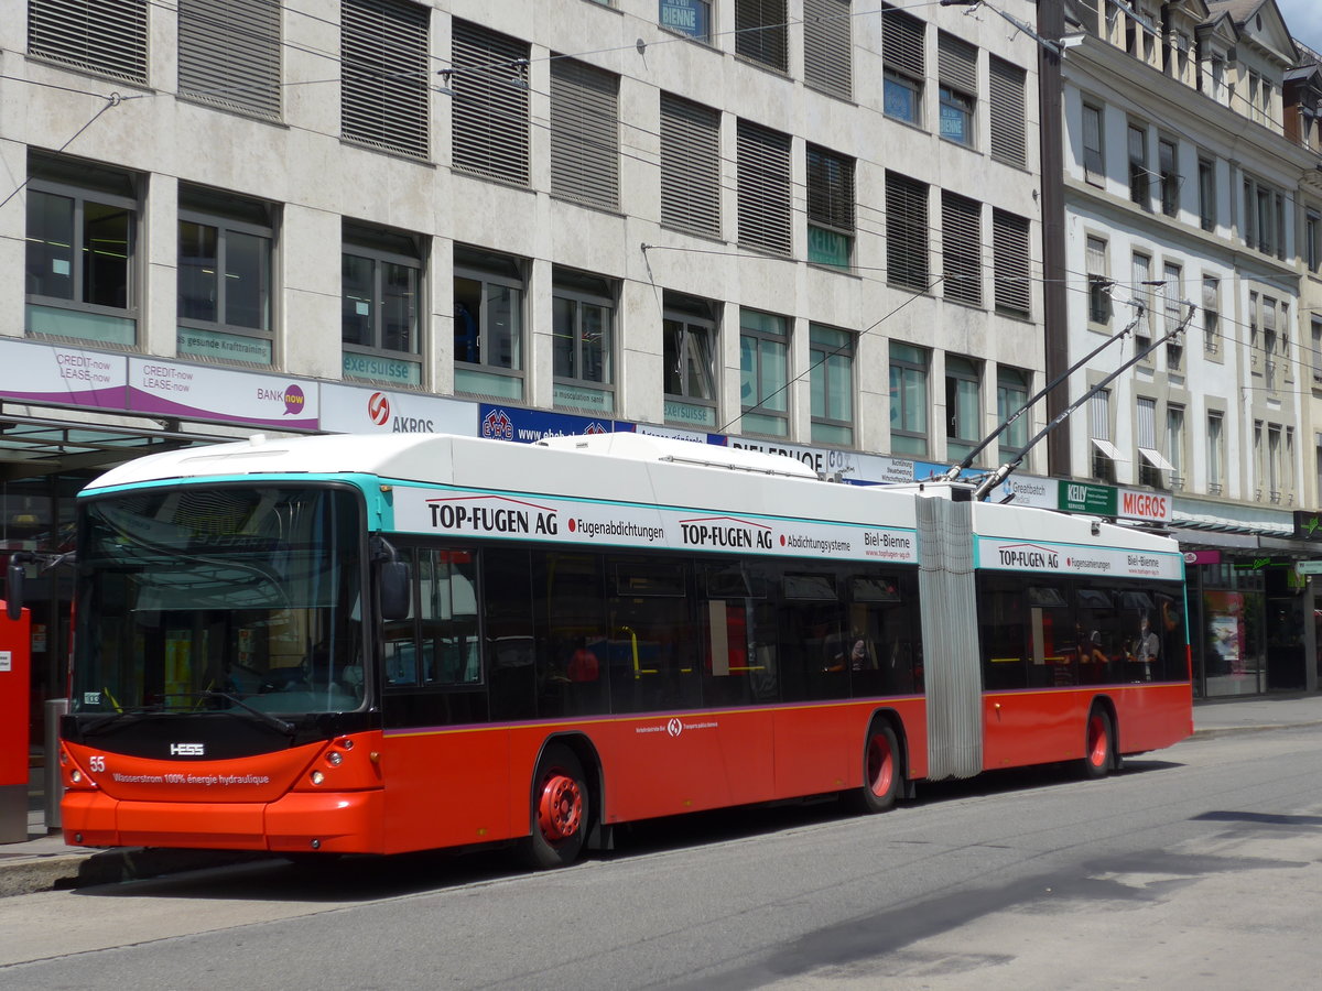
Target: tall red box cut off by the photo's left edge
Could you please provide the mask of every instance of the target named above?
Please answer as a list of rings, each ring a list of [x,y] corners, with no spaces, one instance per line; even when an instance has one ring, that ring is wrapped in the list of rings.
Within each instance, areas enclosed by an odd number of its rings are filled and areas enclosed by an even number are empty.
[[[0,843],[28,839],[30,636],[32,613],[11,620],[0,601]]]

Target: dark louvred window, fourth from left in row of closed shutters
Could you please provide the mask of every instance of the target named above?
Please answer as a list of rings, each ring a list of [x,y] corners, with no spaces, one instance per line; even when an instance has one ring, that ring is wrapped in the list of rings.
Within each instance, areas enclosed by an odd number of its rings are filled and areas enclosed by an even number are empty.
[[[449,155],[455,169],[529,182],[527,42],[455,20]]]

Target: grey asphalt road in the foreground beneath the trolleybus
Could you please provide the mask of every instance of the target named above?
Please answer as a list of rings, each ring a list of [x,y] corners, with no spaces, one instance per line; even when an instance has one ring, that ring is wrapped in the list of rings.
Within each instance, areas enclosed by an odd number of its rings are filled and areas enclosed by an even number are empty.
[[[1322,727],[882,817],[740,810],[561,872],[256,863],[0,900],[5,988],[1313,988]]]

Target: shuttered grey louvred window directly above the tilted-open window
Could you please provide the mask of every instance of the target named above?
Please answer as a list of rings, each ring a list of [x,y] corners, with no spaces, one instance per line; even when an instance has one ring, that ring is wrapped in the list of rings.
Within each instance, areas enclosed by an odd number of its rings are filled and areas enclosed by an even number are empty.
[[[720,237],[720,112],[661,94],[661,222]]]

